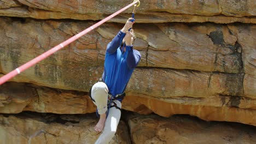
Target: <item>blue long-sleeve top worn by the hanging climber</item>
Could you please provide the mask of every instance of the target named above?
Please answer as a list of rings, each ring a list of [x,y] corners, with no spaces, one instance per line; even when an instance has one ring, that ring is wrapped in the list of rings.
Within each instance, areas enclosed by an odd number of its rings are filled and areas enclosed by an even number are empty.
[[[119,31],[108,44],[104,62],[104,72],[102,74],[102,79],[108,86],[108,91],[114,97],[117,94],[124,93],[132,72],[141,59],[141,53],[137,50],[133,50],[132,45],[126,46],[126,51],[122,54],[120,41],[124,39],[124,36],[125,33]]]

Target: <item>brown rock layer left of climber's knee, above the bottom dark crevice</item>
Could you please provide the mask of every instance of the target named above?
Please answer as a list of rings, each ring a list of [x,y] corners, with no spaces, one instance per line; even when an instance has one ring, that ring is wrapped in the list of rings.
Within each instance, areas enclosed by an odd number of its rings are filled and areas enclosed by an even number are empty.
[[[49,113],[91,113],[96,107],[88,93],[9,82],[0,86],[0,113],[36,111]]]

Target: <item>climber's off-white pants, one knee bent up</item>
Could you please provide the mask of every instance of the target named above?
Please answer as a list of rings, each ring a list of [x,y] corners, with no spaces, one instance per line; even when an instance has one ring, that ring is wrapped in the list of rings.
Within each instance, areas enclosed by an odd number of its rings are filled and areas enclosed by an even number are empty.
[[[108,99],[108,87],[103,82],[97,82],[92,86],[91,89],[91,97],[95,100],[95,105],[97,106],[97,110],[99,114],[102,114],[107,111],[107,99]],[[121,109],[121,102],[118,100],[114,100],[115,104]],[[113,104],[112,104],[113,105]],[[101,112],[101,113],[100,113]],[[98,137],[98,140],[95,142],[98,143],[109,143],[110,140],[115,135],[117,131],[118,123],[121,117],[121,111],[116,107],[111,107],[108,111],[108,116],[105,122],[104,129]]]

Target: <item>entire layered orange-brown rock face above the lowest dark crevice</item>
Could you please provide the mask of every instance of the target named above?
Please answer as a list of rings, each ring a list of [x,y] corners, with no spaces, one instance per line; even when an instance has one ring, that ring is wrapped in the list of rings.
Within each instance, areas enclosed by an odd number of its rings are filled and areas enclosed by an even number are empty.
[[[0,0],[0,76],[129,3]],[[123,109],[256,126],[255,7],[253,0],[141,1],[133,26],[133,46],[141,52],[141,62],[127,85]],[[88,91],[102,75],[107,44],[131,11],[129,8],[1,85],[0,113],[95,112]],[[185,137],[178,131],[170,134]],[[235,135],[231,137],[235,138],[230,141],[236,141]],[[177,140],[191,139],[183,138]],[[19,139],[28,141],[22,136]],[[46,140],[45,136],[38,139]],[[157,139],[168,143],[163,136]],[[142,140],[132,138],[135,143]]]

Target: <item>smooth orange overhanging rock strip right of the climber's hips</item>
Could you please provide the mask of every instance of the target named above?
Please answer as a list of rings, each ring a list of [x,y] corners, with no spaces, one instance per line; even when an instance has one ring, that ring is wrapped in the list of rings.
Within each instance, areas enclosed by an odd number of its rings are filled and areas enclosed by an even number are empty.
[[[134,102],[132,100],[135,100]],[[206,121],[239,122],[256,126],[256,111],[254,109],[238,109],[236,107],[216,107],[202,105],[172,104],[166,101],[142,97],[127,97],[124,101],[126,110],[146,112],[146,107],[160,116],[170,117],[176,114],[188,114]],[[126,104],[127,103],[127,104]]]

